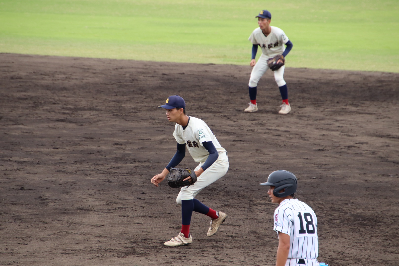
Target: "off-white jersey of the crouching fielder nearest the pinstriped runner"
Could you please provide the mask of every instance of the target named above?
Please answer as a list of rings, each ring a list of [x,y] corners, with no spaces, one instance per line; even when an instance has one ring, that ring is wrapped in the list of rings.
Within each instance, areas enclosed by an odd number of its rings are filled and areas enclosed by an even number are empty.
[[[188,125],[184,130],[182,126],[176,124],[173,136],[179,144],[186,143],[188,152],[194,161],[198,163],[205,162],[209,156],[209,152],[203,147],[202,142],[211,141],[217,152],[226,152],[220,146],[219,141],[217,141],[209,126],[199,118],[190,116]]]

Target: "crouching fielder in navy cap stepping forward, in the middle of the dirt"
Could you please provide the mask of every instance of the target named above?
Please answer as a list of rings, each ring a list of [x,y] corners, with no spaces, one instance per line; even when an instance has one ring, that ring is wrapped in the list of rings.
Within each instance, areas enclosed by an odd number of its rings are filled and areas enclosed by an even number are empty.
[[[211,129],[201,119],[186,115],[186,102],[178,95],[166,99],[164,105],[158,106],[166,109],[166,117],[170,122],[176,122],[173,136],[177,141],[177,151],[162,173],[155,175],[151,183],[158,184],[168,175],[170,168],[176,167],[188,152],[198,162],[194,169],[197,182],[188,187],[182,187],[176,198],[178,205],[182,206],[182,229],[178,236],[165,242],[166,246],[182,246],[193,242],[190,234],[192,212],[203,213],[211,218],[211,225],[207,236],[212,236],[219,229],[227,215],[221,211],[214,211],[205,206],[194,197],[217,179],[221,178],[229,168],[226,150],[219,144]],[[188,177],[187,180],[190,180]],[[185,179],[186,180],[186,179]]]

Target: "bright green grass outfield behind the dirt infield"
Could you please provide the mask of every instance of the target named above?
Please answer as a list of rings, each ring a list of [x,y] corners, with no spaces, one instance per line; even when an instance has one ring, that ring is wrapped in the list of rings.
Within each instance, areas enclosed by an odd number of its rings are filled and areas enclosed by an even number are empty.
[[[0,0],[0,52],[248,65],[261,9],[287,67],[399,73],[398,0]],[[261,50],[258,49],[259,57]]]

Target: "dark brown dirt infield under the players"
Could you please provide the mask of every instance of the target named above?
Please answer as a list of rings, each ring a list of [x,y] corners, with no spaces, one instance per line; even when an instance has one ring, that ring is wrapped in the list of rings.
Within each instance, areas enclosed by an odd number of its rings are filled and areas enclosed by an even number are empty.
[[[275,265],[267,188],[277,169],[318,215],[319,261],[399,261],[399,74],[292,69],[279,115],[272,73],[244,113],[249,66],[0,54],[0,265]],[[157,108],[186,99],[229,153],[197,196],[229,217],[188,246],[176,189],[150,178],[172,158],[174,123]],[[180,164],[195,167],[189,155]]]

